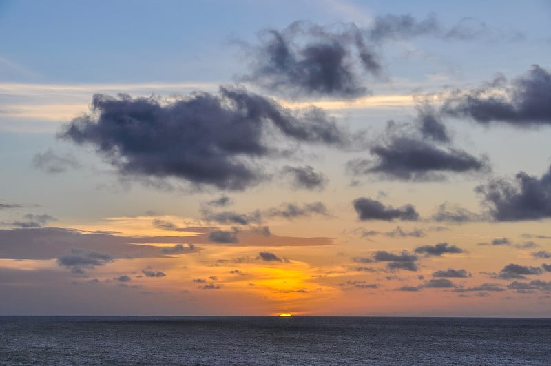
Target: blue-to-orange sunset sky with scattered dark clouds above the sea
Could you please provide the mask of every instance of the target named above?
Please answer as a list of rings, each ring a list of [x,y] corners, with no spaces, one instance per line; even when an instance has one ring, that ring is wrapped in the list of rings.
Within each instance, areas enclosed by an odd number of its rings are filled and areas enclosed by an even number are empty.
[[[548,1],[0,1],[0,315],[551,316]]]

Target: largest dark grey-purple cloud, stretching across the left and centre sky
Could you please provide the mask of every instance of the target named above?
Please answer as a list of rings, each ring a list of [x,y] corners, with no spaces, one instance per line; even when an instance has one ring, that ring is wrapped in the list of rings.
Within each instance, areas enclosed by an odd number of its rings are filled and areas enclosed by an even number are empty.
[[[319,108],[291,111],[242,88],[196,92],[179,99],[96,94],[92,112],[59,133],[89,144],[122,176],[175,178],[244,190],[264,175],[256,159],[274,154],[274,137],[344,146],[348,134]]]

